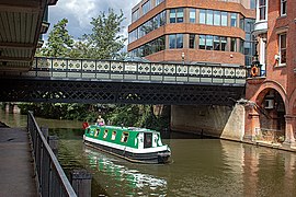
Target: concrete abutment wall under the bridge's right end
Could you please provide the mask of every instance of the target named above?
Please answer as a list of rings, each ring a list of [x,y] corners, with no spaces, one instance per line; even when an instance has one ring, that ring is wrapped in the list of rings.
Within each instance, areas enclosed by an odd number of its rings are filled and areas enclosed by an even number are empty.
[[[241,141],[244,135],[244,106],[171,107],[171,129]]]

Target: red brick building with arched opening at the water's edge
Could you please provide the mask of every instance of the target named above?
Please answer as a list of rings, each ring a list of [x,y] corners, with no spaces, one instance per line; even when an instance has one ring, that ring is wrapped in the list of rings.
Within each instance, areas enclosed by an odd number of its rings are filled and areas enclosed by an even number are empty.
[[[295,142],[296,131],[296,1],[259,0],[253,35],[261,74],[247,81],[247,100],[254,103],[246,118],[246,138],[271,130]]]

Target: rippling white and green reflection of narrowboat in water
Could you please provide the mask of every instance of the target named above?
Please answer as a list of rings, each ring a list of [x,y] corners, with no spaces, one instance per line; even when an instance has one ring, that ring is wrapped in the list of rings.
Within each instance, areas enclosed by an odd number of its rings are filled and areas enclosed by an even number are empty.
[[[133,163],[132,165],[135,167],[128,166],[128,164],[130,165],[128,161],[87,146],[83,146],[83,149],[86,159],[94,171],[93,178],[99,182],[99,185],[104,186],[103,189],[110,196],[159,196],[167,194],[167,181],[145,174],[136,169],[143,164]]]

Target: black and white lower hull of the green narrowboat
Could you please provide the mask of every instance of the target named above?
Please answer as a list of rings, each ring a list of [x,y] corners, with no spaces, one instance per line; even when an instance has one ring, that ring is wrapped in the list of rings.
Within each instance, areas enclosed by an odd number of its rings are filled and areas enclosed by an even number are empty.
[[[134,153],[126,150],[107,147],[84,139],[84,144],[114,154],[135,163],[158,164],[168,163],[171,152],[169,150],[149,153]]]

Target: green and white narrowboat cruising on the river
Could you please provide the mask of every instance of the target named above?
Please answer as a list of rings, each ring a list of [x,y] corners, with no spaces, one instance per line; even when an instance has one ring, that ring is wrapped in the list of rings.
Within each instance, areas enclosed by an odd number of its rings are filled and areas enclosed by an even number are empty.
[[[170,148],[162,144],[160,132],[146,128],[96,126],[86,128],[87,146],[137,163],[167,163]]]

